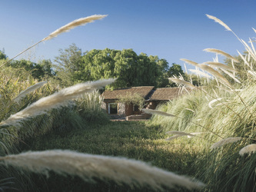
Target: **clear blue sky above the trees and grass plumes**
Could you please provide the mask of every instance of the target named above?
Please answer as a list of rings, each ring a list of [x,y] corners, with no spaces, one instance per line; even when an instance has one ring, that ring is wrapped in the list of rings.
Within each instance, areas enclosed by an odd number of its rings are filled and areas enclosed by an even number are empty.
[[[0,50],[9,58],[77,18],[100,14],[108,17],[72,29],[39,44],[20,58],[34,61],[59,55],[59,48],[75,43],[82,51],[132,48],[137,54],[158,55],[183,66],[180,58],[198,63],[211,61],[204,48],[231,55],[244,51],[224,27],[207,18],[214,15],[240,38],[256,36],[255,0],[2,0]]]

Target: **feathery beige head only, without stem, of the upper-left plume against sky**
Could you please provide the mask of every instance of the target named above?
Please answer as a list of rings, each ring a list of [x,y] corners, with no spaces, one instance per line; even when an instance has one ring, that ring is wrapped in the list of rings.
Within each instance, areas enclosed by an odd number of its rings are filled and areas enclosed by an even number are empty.
[[[91,23],[91,22],[94,22],[95,20],[105,18],[106,16],[108,16],[108,15],[91,15],[86,18],[78,18],[75,21],[70,22],[67,25],[64,25],[61,28],[58,28],[57,30],[53,31],[50,35],[48,35],[48,37],[43,38],[42,41],[50,40],[51,38],[55,38],[64,32],[68,32],[72,28],[75,28],[75,27],[78,27],[81,25],[86,25],[87,23]]]

